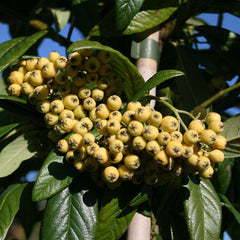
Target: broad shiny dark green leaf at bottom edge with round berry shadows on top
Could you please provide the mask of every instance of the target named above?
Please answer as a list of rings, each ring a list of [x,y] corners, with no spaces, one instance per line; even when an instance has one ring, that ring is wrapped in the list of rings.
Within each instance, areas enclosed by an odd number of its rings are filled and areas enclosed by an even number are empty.
[[[98,204],[92,189],[75,183],[49,199],[45,210],[43,240],[94,239]]]

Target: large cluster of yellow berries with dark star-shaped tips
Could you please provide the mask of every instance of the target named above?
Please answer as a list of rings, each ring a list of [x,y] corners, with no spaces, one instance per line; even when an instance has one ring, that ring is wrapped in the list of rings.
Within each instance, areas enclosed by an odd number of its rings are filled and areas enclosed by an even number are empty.
[[[9,75],[8,92],[36,104],[50,133],[71,133],[58,138],[58,151],[99,185],[161,185],[189,172],[211,177],[214,164],[224,160],[220,115],[192,120],[181,133],[175,117],[138,101],[122,112],[121,79],[110,61],[108,52],[92,49],[68,59],[51,52],[48,59],[23,60]]]

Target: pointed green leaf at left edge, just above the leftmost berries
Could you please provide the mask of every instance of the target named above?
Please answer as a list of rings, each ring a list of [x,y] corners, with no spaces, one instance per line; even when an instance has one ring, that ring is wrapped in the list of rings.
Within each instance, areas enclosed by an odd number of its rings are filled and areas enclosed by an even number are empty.
[[[21,57],[47,32],[47,30],[43,30],[29,37],[19,37],[0,44],[0,72]]]

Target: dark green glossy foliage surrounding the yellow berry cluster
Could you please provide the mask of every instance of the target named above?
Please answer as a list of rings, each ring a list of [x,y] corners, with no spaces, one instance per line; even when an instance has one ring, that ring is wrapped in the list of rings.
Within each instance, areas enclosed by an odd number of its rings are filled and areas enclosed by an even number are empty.
[[[9,25],[12,39],[0,44],[0,239],[16,219],[27,237],[42,221],[42,239],[123,239],[135,212],[158,224],[160,233],[153,233],[153,239],[218,240],[224,231],[239,239],[240,116],[225,111],[240,107],[240,36],[221,27],[224,12],[239,17],[239,10],[236,0],[1,1],[0,21]],[[219,14],[218,26],[199,19],[203,12]],[[58,32],[68,22],[71,28],[64,38]],[[74,27],[85,41],[70,41]],[[159,72],[144,83],[130,47],[133,40],[140,42],[156,30],[161,33]],[[208,49],[200,48],[199,37],[206,39]],[[35,108],[7,94],[9,71],[21,59],[37,56],[45,38],[63,45],[66,56],[79,49],[109,52],[114,72],[124,79],[123,108],[131,100],[155,99],[163,115],[185,113],[181,120],[186,125],[190,113],[221,114],[221,135],[228,144],[214,177],[204,180],[189,174],[157,187],[123,183],[111,190],[89,180],[89,174],[79,174],[56,151]],[[238,79],[230,86],[233,77]],[[154,87],[155,97],[148,95]],[[32,170],[38,176],[29,183],[26,176]],[[35,207],[45,200],[44,210]],[[28,224],[26,206],[32,206]]]

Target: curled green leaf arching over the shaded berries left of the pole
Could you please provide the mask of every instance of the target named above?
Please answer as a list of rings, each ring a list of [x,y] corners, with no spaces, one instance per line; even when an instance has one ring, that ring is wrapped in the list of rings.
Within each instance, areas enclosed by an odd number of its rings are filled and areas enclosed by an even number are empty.
[[[131,99],[131,97],[143,86],[144,79],[138,72],[136,66],[119,51],[104,46],[99,42],[80,40],[69,46],[67,54],[80,49],[97,49],[110,53],[112,57],[112,70],[124,79],[124,91],[128,99]]]

